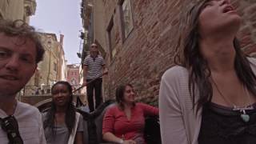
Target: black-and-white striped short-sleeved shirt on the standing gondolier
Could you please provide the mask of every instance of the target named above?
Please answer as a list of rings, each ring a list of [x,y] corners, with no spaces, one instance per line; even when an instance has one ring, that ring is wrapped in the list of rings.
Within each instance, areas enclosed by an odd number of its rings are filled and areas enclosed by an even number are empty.
[[[83,65],[87,66],[86,79],[94,79],[102,75],[102,66],[105,65],[105,62],[102,56],[100,55],[97,55],[97,57],[95,58],[88,55],[85,58]]]

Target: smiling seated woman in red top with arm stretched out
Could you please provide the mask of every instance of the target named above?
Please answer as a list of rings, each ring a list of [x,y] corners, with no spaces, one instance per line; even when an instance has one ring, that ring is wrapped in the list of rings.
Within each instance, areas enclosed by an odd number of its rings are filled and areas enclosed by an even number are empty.
[[[120,144],[145,144],[145,117],[158,115],[158,108],[134,102],[133,86],[126,84],[116,90],[117,105],[106,111],[103,119],[103,139]]]

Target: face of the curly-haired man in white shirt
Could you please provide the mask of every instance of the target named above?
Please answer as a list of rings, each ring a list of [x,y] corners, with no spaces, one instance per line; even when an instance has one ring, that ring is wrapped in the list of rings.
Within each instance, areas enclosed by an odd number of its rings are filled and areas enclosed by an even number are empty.
[[[36,46],[28,38],[0,33],[0,97],[17,94],[37,67]]]

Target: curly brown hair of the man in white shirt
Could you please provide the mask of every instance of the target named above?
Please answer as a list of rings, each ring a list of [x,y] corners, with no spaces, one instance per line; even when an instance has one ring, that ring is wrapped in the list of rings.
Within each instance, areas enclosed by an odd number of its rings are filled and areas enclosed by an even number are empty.
[[[36,63],[42,61],[45,50],[42,46],[40,36],[36,32],[33,26],[29,26],[23,20],[5,20],[0,19],[0,33],[4,33],[10,37],[20,37],[24,39],[22,45],[26,43],[27,38],[32,40],[36,45]]]

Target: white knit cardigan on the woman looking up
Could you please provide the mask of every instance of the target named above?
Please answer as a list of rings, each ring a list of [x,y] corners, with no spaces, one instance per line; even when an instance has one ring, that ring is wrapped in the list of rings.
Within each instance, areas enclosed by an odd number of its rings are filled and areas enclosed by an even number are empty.
[[[248,58],[256,74],[256,59]],[[188,89],[188,71],[174,66],[162,75],[159,91],[159,116],[162,144],[198,144],[202,109],[196,114]],[[196,101],[199,97],[195,93]]]

